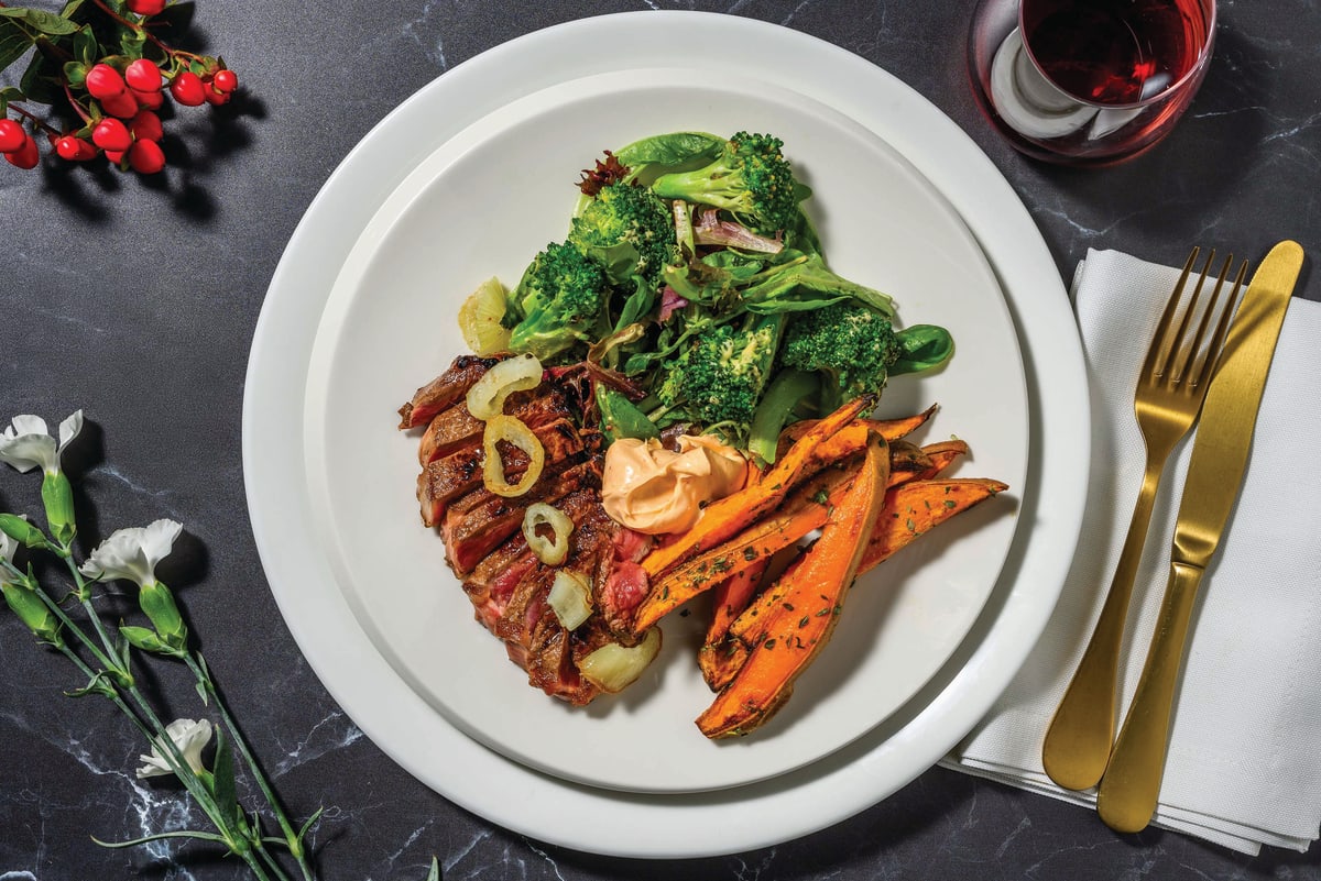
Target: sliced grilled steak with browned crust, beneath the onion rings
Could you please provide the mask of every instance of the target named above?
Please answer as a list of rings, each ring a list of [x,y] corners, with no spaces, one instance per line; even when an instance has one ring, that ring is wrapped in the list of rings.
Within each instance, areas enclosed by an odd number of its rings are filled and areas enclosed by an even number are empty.
[[[573,373],[548,372],[528,392],[511,394],[505,411],[524,422],[546,452],[542,476],[518,497],[485,488],[483,423],[464,401],[468,389],[499,359],[462,356],[400,408],[402,429],[424,427],[417,502],[423,524],[435,528],[445,559],[460,578],[473,616],[505,644],[528,683],[581,706],[600,694],[579,663],[606,642],[631,645],[631,612],[646,588],[637,564],[650,538],[616,524],[601,505],[602,439],[583,426],[584,397]],[[523,473],[528,456],[499,444],[505,475]],[[569,551],[560,566],[542,563],[523,535],[523,516],[534,502],[555,505],[573,522]],[[548,605],[556,571],[581,574],[596,612],[569,630]],[[638,592],[638,578],[642,578]]]

